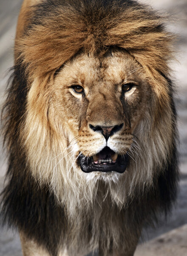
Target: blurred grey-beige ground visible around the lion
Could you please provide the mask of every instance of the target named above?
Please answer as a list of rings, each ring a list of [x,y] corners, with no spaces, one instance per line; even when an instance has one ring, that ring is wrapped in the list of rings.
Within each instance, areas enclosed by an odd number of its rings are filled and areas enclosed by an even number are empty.
[[[13,45],[17,16],[22,0],[0,0],[0,104],[4,99],[7,70],[13,64]],[[172,63],[178,111],[180,145],[180,183],[176,207],[167,222],[161,216],[159,226],[144,230],[135,256],[187,256],[187,0],[141,0],[170,14],[168,26],[177,34],[176,61]],[[1,145],[1,144],[0,144]],[[1,146],[0,146],[1,150]],[[6,159],[0,154],[0,189],[6,172]],[[20,239],[15,231],[0,231],[0,256],[21,256]]]

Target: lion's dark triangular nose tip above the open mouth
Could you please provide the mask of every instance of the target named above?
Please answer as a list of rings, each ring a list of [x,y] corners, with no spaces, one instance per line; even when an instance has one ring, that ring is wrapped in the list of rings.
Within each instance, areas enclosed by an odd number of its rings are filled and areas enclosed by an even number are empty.
[[[96,132],[102,133],[102,135],[105,137],[106,140],[116,133],[117,131],[121,130],[123,127],[123,123],[121,125],[113,125],[113,126],[101,126],[101,125],[91,125],[89,124],[89,127]]]

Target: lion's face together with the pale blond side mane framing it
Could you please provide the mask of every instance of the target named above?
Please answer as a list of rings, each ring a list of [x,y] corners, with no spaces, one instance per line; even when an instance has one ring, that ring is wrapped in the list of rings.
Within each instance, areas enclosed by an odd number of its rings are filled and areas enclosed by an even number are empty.
[[[159,83],[116,48],[79,53],[52,78],[34,79],[22,136],[31,173],[69,205],[92,201],[100,181],[119,205],[136,186],[150,186],[172,132]]]

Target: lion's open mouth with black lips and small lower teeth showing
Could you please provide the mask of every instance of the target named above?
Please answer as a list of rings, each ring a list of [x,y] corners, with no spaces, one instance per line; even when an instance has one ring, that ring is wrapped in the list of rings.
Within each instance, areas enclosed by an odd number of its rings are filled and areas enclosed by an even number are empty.
[[[125,172],[128,163],[128,155],[119,155],[105,147],[98,154],[85,157],[80,154],[78,163],[83,172]]]

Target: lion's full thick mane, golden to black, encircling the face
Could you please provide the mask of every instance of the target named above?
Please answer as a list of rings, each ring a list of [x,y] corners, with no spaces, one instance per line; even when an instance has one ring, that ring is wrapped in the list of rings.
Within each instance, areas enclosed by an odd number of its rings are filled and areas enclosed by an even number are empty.
[[[48,0],[30,8],[26,17],[3,108],[8,148],[4,221],[53,256],[61,244],[76,255],[102,241],[104,252],[111,244],[130,246],[176,198],[176,111],[168,67],[173,37],[160,15],[131,0]],[[117,186],[77,174],[66,149],[68,130],[48,120],[48,84],[65,61],[79,52],[102,56],[110,47],[125,49],[141,65],[154,102],[136,129],[140,148],[133,155],[133,171]],[[62,152],[59,165],[56,156]]]

